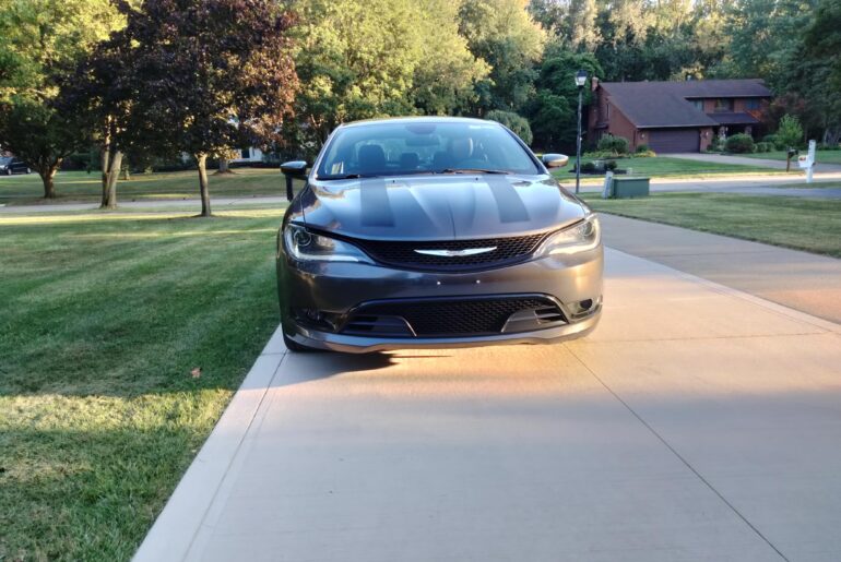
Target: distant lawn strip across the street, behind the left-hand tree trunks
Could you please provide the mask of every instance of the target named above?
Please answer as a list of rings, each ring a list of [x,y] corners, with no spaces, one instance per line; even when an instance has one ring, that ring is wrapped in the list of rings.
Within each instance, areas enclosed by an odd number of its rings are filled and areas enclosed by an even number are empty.
[[[198,171],[137,174],[117,183],[121,202],[152,199],[197,199]],[[234,174],[209,174],[211,199],[284,196],[286,184],[280,169],[236,168]],[[49,203],[97,202],[102,198],[99,172],[62,171],[56,176],[58,200]],[[9,205],[47,203],[37,174],[0,177],[0,203]]]

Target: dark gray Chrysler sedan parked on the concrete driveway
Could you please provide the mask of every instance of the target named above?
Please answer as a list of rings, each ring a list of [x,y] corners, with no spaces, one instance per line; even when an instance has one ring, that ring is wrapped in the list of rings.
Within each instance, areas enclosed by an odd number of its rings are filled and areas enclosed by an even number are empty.
[[[368,352],[548,343],[599,322],[599,219],[493,121],[399,118],[339,127],[309,174],[282,165],[284,339]],[[305,180],[292,193],[292,178]]]

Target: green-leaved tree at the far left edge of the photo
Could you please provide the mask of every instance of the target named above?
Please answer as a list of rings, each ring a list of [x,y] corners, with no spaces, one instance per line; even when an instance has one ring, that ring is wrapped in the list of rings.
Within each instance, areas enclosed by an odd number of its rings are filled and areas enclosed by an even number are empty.
[[[108,0],[27,0],[0,4],[0,145],[29,163],[57,196],[56,171],[87,137],[57,107],[74,62],[122,25]]]

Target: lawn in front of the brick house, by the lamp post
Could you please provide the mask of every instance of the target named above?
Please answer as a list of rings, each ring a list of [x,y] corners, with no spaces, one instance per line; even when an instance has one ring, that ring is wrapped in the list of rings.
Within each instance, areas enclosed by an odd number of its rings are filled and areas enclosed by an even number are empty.
[[[582,163],[588,162],[587,158],[581,159]],[[569,165],[561,168],[560,171],[555,171],[554,175],[564,181],[565,184],[569,184],[569,181],[575,181],[575,172],[570,172],[572,165],[575,164],[575,156],[570,158]],[[742,166],[737,164],[719,164],[711,162],[697,162],[685,158],[672,158],[670,156],[655,156],[653,158],[616,158],[616,164],[620,169],[632,170],[635,176],[649,176],[649,177],[670,177],[670,178],[703,178],[706,176],[718,176],[722,174],[785,174],[782,170],[765,168],[762,166]],[[592,178],[592,176],[582,175],[582,179]],[[597,181],[604,179],[603,176],[597,177]]]

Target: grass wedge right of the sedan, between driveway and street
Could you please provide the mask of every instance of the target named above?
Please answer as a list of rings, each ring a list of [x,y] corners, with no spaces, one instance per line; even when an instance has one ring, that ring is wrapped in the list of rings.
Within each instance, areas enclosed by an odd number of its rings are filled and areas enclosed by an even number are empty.
[[[841,200],[720,193],[584,199],[604,213],[841,258]]]

